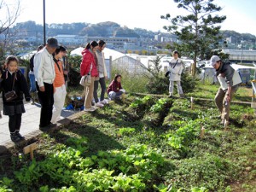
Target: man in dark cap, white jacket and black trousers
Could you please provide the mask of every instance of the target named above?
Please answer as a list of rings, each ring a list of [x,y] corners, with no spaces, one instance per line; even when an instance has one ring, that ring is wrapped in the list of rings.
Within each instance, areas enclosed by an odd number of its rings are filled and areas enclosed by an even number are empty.
[[[47,131],[55,126],[50,123],[54,104],[55,62],[53,53],[59,48],[55,38],[48,38],[44,49],[40,50],[34,57],[34,73],[38,90],[38,99],[41,103],[39,129]]]

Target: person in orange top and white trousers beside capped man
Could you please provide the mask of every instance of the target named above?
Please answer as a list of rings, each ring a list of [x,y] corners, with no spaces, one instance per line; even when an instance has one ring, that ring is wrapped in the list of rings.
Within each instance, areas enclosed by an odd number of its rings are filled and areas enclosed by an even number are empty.
[[[61,58],[66,54],[66,48],[60,46],[55,50],[53,54],[53,60],[55,61],[55,80],[54,86],[54,108],[50,122],[55,124],[61,117],[61,110],[65,103],[67,96],[66,84],[64,79],[63,67]]]

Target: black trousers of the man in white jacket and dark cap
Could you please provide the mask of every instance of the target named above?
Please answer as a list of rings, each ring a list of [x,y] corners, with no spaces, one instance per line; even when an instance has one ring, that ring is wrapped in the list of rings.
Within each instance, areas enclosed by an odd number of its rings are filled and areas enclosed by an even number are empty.
[[[38,90],[38,100],[41,103],[41,116],[40,116],[40,127],[50,125],[50,120],[52,117],[52,109],[54,104],[54,88],[53,84],[44,83],[44,92],[39,90],[38,82],[37,82],[37,90]]]

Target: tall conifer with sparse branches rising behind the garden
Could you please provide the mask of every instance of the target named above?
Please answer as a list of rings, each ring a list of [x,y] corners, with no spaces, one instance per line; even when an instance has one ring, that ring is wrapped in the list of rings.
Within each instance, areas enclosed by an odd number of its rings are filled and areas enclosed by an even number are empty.
[[[205,59],[205,53],[214,49],[214,44],[221,39],[220,26],[226,16],[213,15],[222,8],[212,3],[213,0],[174,0],[177,8],[185,9],[189,15],[177,15],[171,18],[170,14],[161,16],[161,19],[169,20],[172,25],[164,26],[168,32],[177,35],[182,42],[179,44],[181,52],[189,54],[194,60],[193,76],[195,76],[196,60]]]

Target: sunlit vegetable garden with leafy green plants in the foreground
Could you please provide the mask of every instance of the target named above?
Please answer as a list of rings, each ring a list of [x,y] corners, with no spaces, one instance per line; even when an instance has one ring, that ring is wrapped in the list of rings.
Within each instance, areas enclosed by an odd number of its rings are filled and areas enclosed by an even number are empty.
[[[188,96],[213,98],[209,87]],[[230,118],[224,131],[213,102],[130,94],[34,138],[35,160],[3,154],[0,191],[255,191],[253,109],[232,104]]]

